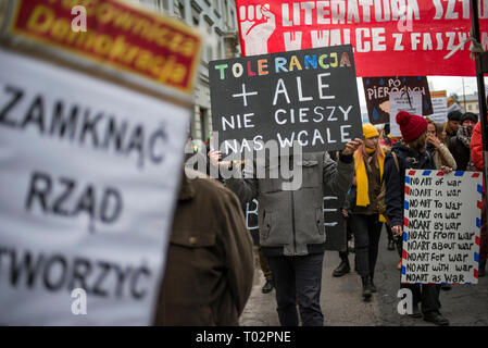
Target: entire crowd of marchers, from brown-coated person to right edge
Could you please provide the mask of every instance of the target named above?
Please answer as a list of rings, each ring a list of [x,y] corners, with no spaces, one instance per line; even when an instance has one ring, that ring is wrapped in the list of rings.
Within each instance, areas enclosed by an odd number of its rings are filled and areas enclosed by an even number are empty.
[[[484,167],[476,114],[452,111],[439,124],[401,111],[396,121],[401,137],[391,136],[388,125],[367,123],[363,137],[347,142],[342,151],[291,157],[302,171],[302,184],[295,190],[283,189],[283,177],[258,178],[255,162],[223,161],[210,144],[196,149],[196,156],[208,160],[208,173],[196,174],[187,166],[183,175],[155,324],[238,325],[253,283],[253,241],[243,216],[246,203],[253,199],[259,201],[254,245],[266,279],[262,291],[275,289],[281,325],[324,325],[320,298],[325,195],[343,201],[350,240],[339,252],[341,262],[333,275],[351,272],[348,252],[353,251],[354,270],[362,279],[358,296],[371,300],[377,291],[375,265],[384,225],[388,250],[399,251],[401,269],[405,169],[450,173]],[[265,170],[271,165],[266,159]],[[205,175],[215,167],[232,171],[232,178]],[[189,179],[189,173],[198,177]],[[488,254],[486,225],[484,185],[479,277],[485,276]],[[401,284],[400,272],[398,284],[412,290],[410,316],[449,325],[440,312],[441,289],[449,285]]]

